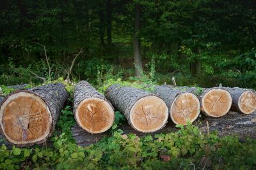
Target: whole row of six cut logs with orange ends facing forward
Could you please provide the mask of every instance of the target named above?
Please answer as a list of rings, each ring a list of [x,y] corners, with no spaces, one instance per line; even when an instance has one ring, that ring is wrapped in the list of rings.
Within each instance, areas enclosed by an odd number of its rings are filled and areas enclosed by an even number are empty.
[[[2,134],[18,146],[44,143],[54,132],[67,98],[61,83],[19,89],[0,97]],[[76,85],[74,117],[86,132],[108,131],[115,121],[114,108],[124,114],[133,129],[147,133],[163,129],[169,117],[175,124],[186,125],[194,122],[200,112],[214,118],[223,117],[229,110],[248,115],[256,110],[256,95],[253,90],[237,87],[197,89],[161,85],[150,93],[111,85],[104,96],[87,81]]]

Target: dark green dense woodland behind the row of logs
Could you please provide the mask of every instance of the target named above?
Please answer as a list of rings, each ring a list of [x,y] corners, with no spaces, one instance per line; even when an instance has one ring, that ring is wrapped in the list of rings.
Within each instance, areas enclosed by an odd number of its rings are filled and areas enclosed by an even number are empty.
[[[255,87],[255,8],[255,1],[1,1],[0,83],[65,78],[83,48],[72,80],[154,70],[160,83],[174,76],[180,85]]]

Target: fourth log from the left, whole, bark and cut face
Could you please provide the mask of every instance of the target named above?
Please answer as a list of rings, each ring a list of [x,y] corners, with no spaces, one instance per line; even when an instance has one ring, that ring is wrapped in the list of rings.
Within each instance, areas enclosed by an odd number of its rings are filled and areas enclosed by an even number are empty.
[[[194,122],[199,116],[200,102],[194,94],[167,86],[154,88],[154,93],[167,104],[175,124],[186,125],[188,120]]]

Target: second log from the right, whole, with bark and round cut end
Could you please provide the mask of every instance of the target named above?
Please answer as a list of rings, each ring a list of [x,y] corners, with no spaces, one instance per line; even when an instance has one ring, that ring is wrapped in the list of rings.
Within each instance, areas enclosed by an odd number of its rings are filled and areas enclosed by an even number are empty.
[[[200,93],[195,87],[188,88],[187,91],[198,95],[201,111],[209,117],[222,117],[231,108],[232,97],[227,90],[221,87],[202,89]]]

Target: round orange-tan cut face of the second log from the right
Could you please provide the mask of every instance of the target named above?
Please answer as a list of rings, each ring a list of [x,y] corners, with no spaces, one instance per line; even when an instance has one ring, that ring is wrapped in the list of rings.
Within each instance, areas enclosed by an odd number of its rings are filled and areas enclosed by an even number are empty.
[[[202,110],[210,117],[226,115],[232,105],[232,97],[227,90],[212,89],[202,98]]]

